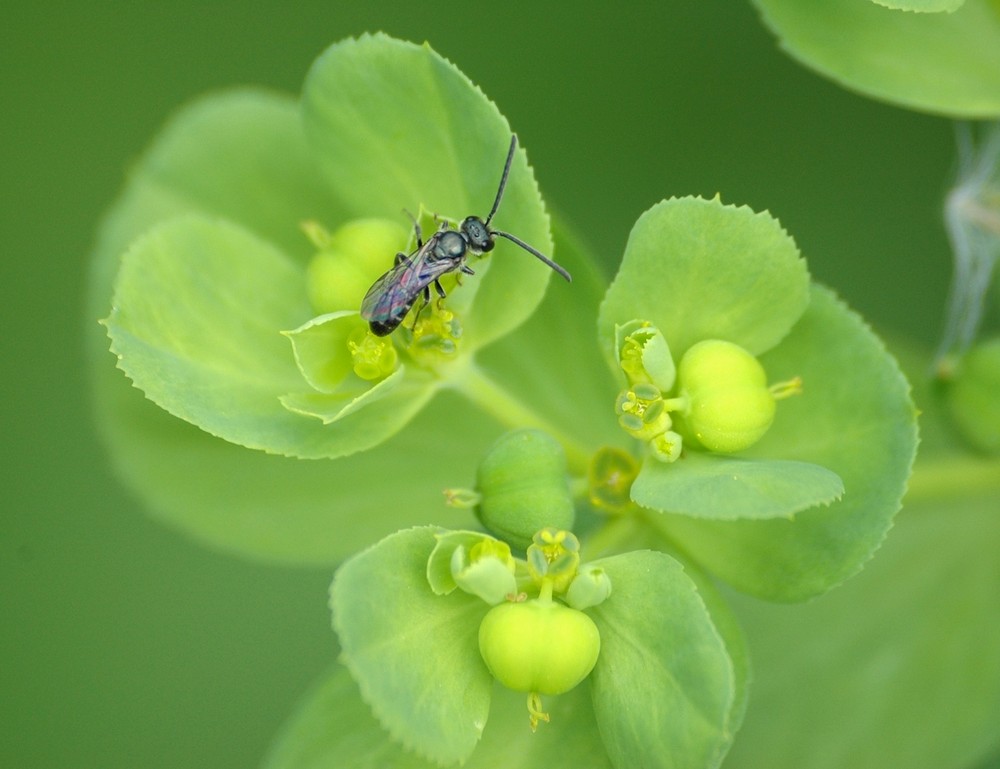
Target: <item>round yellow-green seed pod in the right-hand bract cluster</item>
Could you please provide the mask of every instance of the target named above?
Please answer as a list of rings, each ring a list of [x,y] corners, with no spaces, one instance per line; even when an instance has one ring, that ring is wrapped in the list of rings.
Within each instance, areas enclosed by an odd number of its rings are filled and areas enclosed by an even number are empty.
[[[710,451],[752,446],[774,421],[774,395],[757,359],[738,345],[709,339],[693,345],[678,367],[691,434]]]

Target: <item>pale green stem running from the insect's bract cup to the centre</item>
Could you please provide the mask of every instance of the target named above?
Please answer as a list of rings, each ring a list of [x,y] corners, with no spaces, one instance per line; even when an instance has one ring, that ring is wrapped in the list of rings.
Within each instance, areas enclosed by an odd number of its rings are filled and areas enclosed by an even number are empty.
[[[590,452],[542,414],[511,394],[475,363],[470,362],[460,372],[450,372],[449,379],[451,389],[461,393],[502,425],[512,430],[534,427],[547,432],[566,451],[570,473],[586,474],[590,465]]]

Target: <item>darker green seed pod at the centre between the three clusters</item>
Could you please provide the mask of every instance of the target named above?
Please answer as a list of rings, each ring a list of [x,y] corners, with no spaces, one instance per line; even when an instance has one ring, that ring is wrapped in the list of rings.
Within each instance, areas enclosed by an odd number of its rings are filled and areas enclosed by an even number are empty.
[[[547,526],[573,528],[566,455],[541,430],[502,436],[479,464],[476,485],[479,520],[515,548],[527,549],[532,535]]]

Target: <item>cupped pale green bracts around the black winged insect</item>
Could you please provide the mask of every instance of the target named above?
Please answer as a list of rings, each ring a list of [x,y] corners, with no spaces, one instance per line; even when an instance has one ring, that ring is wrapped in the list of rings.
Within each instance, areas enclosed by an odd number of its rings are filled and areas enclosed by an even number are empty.
[[[287,179],[244,178],[260,147],[239,141],[235,125],[209,133],[195,123],[203,112],[164,136],[133,187],[155,163],[177,180],[178,202],[173,210],[139,203],[129,212],[146,217],[147,234],[122,260],[106,325],[119,367],[175,416],[270,453],[344,456],[397,433],[437,391],[461,380],[479,347],[531,314],[549,271],[513,244],[498,244],[489,258],[474,260],[476,275],[448,299],[458,343],[435,352],[401,336],[396,360],[391,342],[377,347],[364,337],[356,315],[361,287],[407,248],[404,208],[456,219],[489,211],[511,130],[452,65],[427,47],[384,36],[346,41],[320,57],[300,114],[288,116],[299,122],[295,143],[271,160],[277,166],[290,149],[300,153]],[[402,124],[406,141],[393,139]],[[451,130],[456,124],[461,131]],[[175,152],[180,143],[209,156],[226,140],[236,157],[206,165],[208,180],[191,173],[190,151]],[[223,199],[193,194],[195,182],[225,184]],[[261,205],[281,216],[261,220],[225,199],[251,183]],[[300,229],[305,221],[312,243]],[[552,251],[523,152],[496,221]],[[292,329],[294,354],[281,338]]]

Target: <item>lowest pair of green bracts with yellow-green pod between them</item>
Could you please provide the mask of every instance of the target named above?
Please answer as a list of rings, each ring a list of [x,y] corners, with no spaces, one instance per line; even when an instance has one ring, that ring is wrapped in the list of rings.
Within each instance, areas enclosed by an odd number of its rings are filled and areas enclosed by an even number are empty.
[[[445,562],[461,548],[491,541],[500,544],[474,532],[410,529],[337,572],[330,595],[343,661],[398,742],[432,762],[471,756],[475,766],[476,743],[487,715],[493,722],[492,701],[500,692],[491,694],[485,685],[484,676],[488,681],[492,674],[531,693],[531,725],[550,721],[540,734],[551,729],[572,741],[595,717],[583,711],[596,714],[603,746],[594,745],[588,766],[603,765],[604,752],[617,769],[664,755],[668,747],[683,766],[708,765],[724,754],[742,716],[745,650],[709,586],[702,588],[707,598],[699,597],[670,556],[626,553],[580,567],[581,575],[604,585],[584,614],[553,595],[553,575],[567,567],[577,573],[575,561],[565,557],[575,555],[576,538],[549,529],[536,534],[532,548],[552,571],[540,574],[537,564],[529,564],[526,571],[534,576],[522,582],[527,595],[490,608],[454,590]],[[523,562],[517,571],[525,572]],[[580,691],[574,687],[591,670],[592,706],[574,699]],[[545,703],[545,713],[538,710],[542,694],[558,695]],[[514,741],[518,732],[528,732],[523,702],[521,720],[505,724]],[[499,712],[504,718],[505,710]],[[343,760],[376,755],[351,747],[350,735],[339,730],[329,738],[344,751]],[[384,750],[379,747],[378,755]],[[497,750],[487,748],[484,760],[500,755]]]

